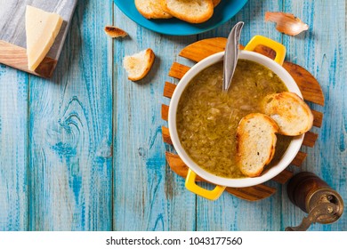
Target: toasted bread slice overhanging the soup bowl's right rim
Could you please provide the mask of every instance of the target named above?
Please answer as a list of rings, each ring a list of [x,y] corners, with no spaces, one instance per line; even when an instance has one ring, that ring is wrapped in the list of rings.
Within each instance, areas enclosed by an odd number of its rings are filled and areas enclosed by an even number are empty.
[[[262,100],[263,113],[278,124],[278,133],[297,136],[308,132],[313,124],[309,106],[294,92],[273,93]]]

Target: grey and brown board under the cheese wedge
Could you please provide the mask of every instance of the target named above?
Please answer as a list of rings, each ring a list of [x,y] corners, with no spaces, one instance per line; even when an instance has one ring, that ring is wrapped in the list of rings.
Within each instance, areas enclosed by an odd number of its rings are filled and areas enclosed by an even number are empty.
[[[25,10],[31,5],[45,12],[56,12],[64,20],[58,36],[35,71],[28,69]],[[51,77],[69,30],[77,0],[7,0],[0,8],[0,63],[42,77]]]

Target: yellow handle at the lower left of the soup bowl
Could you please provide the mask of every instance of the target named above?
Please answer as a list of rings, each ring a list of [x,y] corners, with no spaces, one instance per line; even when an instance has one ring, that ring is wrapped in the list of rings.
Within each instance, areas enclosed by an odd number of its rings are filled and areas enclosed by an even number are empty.
[[[217,185],[212,190],[203,189],[195,183],[196,178],[197,174],[189,169],[186,178],[186,188],[200,197],[205,197],[206,199],[214,201],[222,195],[222,192],[226,188],[224,186]]]

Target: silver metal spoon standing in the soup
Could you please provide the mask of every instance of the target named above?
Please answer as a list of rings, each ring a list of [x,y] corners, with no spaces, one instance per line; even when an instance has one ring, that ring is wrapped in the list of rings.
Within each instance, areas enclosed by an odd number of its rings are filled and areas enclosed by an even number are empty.
[[[239,36],[244,27],[244,22],[239,21],[230,31],[228,42],[225,47],[225,54],[223,60],[223,84],[222,90],[228,92],[232,76],[234,75],[236,65],[238,64],[239,52]]]

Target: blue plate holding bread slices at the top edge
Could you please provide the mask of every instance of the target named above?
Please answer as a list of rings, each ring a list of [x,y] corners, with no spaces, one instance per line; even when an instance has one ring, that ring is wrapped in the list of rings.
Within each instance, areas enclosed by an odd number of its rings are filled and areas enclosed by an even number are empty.
[[[137,11],[134,1],[114,0],[125,15],[141,25],[157,33],[173,36],[195,35],[216,28],[230,20],[247,2],[247,0],[222,0],[214,8],[214,16],[204,23],[191,24],[175,18],[167,20],[147,20]]]

